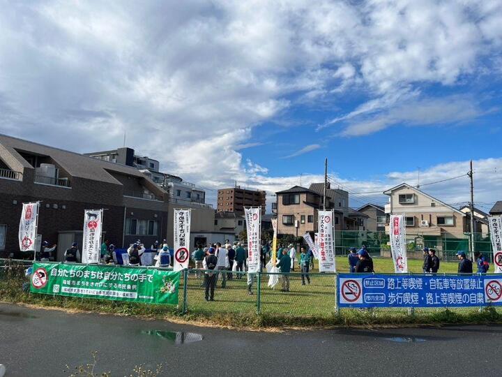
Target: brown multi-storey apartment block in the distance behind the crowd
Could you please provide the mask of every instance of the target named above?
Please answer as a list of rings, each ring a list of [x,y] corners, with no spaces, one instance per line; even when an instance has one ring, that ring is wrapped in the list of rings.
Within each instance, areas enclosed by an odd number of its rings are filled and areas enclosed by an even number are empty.
[[[244,207],[261,207],[265,214],[265,191],[245,190],[240,186],[218,190],[218,212],[244,214]]]

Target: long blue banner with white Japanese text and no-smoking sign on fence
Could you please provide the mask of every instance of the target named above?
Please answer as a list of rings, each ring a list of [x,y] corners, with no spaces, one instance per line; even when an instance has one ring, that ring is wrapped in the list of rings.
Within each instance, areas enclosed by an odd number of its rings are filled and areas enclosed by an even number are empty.
[[[502,304],[502,275],[338,274],[341,308],[455,307]]]

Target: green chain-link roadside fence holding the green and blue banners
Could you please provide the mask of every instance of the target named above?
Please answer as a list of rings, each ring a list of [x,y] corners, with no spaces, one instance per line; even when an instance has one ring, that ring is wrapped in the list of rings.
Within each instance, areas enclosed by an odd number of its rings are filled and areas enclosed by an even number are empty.
[[[32,261],[0,260],[0,297],[10,302],[22,302],[23,295],[29,293],[29,277],[26,269],[31,267]],[[155,267],[152,267],[155,268]],[[178,314],[201,314],[207,318],[220,315],[236,315],[241,318],[261,313],[269,317],[278,318],[333,318],[337,311],[337,274],[311,272],[290,272],[289,274],[260,272],[229,272],[214,270],[214,301],[206,301],[206,285],[208,279],[203,270],[187,269],[181,272],[178,306],[169,309]],[[224,278],[225,276],[225,278]],[[356,276],[356,275],[354,275]],[[269,283],[275,285],[271,286]],[[24,296],[26,297],[26,296]],[[33,296],[34,297],[34,296]],[[42,297],[42,300],[44,298]],[[208,293],[211,299],[211,293]],[[61,297],[61,301],[82,299],[77,297]],[[86,299],[92,305],[95,299]],[[130,303],[116,302],[117,306]],[[96,304],[99,305],[99,304]],[[144,304],[143,306],[146,306]],[[157,306],[158,307],[158,306]],[[380,318],[381,323],[392,322],[393,318],[402,318],[420,314],[443,313],[448,306],[439,308],[381,308],[381,309],[342,309],[345,320],[360,321],[365,318],[375,322]],[[502,309],[493,308],[500,313]],[[452,313],[476,313],[480,308],[455,308]],[[378,322],[378,321],[377,321]]]

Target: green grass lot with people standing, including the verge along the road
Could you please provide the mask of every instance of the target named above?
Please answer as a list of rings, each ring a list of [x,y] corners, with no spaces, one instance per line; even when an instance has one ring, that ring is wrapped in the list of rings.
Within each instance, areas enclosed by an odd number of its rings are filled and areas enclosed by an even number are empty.
[[[409,260],[411,273],[422,272],[420,260]],[[375,258],[377,273],[393,272],[392,260]],[[337,270],[348,272],[347,259],[337,258]],[[13,269],[10,274],[0,276],[0,300],[3,302],[36,304],[38,306],[58,306],[65,309],[79,309],[100,313],[146,316],[148,318],[183,319],[206,324],[229,325],[234,327],[282,327],[282,326],[331,326],[331,325],[397,325],[409,323],[485,323],[502,322],[502,315],[493,307],[482,313],[478,308],[462,309],[415,309],[413,316],[408,309],[387,308],[372,310],[343,309],[335,311],[335,276],[318,274],[317,269],[310,275],[311,283],[301,285],[301,274],[290,276],[290,292],[280,291],[280,283],[275,289],[268,288],[267,274],[261,275],[260,314],[257,314],[257,281],[253,283],[253,295],[248,294],[247,279],[227,281],[222,289],[221,279],[215,291],[215,301],[204,300],[202,279],[195,274],[188,276],[188,312],[181,314],[183,304],[183,278],[181,281],[179,305],[137,304],[134,302],[114,302],[109,300],[80,299],[50,295],[32,295],[22,292],[21,286],[27,279],[23,268]],[[457,263],[441,263],[440,272],[457,272]]]

